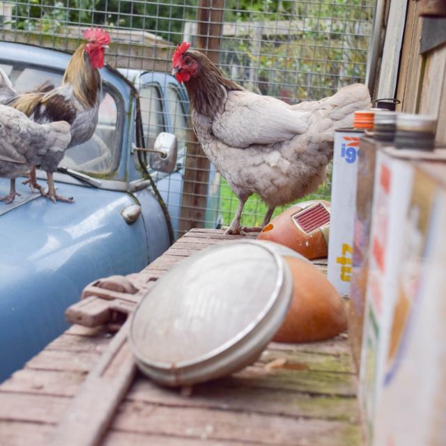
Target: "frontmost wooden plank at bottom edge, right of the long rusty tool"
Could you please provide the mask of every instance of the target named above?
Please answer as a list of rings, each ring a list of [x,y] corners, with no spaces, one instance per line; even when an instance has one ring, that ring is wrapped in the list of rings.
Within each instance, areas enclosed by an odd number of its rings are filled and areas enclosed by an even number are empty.
[[[184,410],[142,401],[125,401],[113,429],[203,440],[238,440],[247,445],[360,445],[359,427],[344,422],[201,408]]]

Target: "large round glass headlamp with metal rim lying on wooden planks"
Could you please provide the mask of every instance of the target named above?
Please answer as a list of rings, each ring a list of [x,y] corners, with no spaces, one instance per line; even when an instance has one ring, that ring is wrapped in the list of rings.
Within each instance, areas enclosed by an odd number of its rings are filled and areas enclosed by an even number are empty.
[[[135,310],[129,341],[145,374],[190,385],[252,363],[291,302],[291,272],[254,240],[217,245],[158,279]]]

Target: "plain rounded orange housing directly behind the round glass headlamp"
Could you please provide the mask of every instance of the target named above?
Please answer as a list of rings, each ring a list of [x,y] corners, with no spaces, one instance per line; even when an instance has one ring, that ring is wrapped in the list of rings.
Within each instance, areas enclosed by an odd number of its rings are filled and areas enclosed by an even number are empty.
[[[325,275],[312,263],[284,259],[293,276],[293,300],[273,341],[323,341],[346,330],[346,305]]]

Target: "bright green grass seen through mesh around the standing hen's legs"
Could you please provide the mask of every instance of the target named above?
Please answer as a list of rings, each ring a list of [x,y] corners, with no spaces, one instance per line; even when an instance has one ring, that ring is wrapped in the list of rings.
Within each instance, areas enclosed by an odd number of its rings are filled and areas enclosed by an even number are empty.
[[[282,213],[285,209],[289,208],[295,203],[300,203],[302,201],[314,200],[314,199],[324,199],[330,200],[331,193],[331,169],[328,171],[328,183],[321,185],[314,194],[309,194],[306,197],[302,197],[293,203],[290,203],[287,206],[280,206],[276,208],[272,217],[274,218],[279,213]],[[226,180],[222,178],[220,181],[220,211],[223,217],[223,224],[229,226],[233,219],[234,214],[236,213],[238,206],[238,198],[232,192],[231,187],[229,187]],[[263,201],[261,201],[260,197],[257,195],[252,195],[249,197],[247,202],[245,203],[245,208],[243,208],[243,215],[241,224],[243,226],[259,226],[261,224],[263,217],[266,214],[268,207]]]

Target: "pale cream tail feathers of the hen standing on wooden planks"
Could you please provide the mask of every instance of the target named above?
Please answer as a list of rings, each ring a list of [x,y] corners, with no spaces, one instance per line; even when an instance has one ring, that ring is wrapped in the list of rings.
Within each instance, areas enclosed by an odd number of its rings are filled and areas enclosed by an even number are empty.
[[[368,109],[371,106],[370,93],[364,84],[352,84],[340,89],[337,93],[318,101],[301,102],[293,106],[302,111],[327,110],[333,121],[334,129],[352,127],[353,114],[356,110]]]

